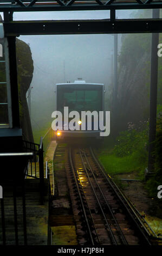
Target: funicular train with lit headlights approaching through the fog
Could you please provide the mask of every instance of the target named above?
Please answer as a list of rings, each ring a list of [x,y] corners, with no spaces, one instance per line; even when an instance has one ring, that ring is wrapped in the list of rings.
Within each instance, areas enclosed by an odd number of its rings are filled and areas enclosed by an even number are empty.
[[[68,118],[65,117],[65,109],[68,109]],[[67,108],[68,107],[68,108]],[[74,81],[74,83],[57,83],[56,84],[56,108],[62,113],[63,125],[56,131],[56,141],[75,141],[77,139],[91,140],[100,139],[99,119],[88,115],[82,118],[82,113],[99,113],[104,107],[104,84],[86,83],[83,80]],[[72,111],[76,111],[77,117]],[[67,113],[67,112],[66,112]],[[70,129],[70,121],[73,120],[73,126],[77,129]]]

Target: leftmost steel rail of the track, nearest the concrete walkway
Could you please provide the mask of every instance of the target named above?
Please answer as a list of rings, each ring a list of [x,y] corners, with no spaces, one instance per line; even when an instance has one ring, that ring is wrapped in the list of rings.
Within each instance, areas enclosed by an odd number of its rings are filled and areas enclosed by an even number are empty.
[[[80,189],[79,189],[79,186],[78,186],[77,180],[76,180],[75,170],[74,170],[73,161],[72,161],[72,150],[71,150],[71,148],[69,148],[69,160],[70,160],[70,166],[71,166],[72,171],[73,171],[73,176],[74,176],[75,185],[76,185],[76,188],[77,188],[77,193],[79,194],[80,203],[81,203],[82,210],[83,210],[83,215],[85,216],[89,237],[90,237],[90,240],[92,241],[92,245],[95,245],[93,237],[92,237],[92,234],[91,234],[91,230],[90,230],[90,226],[89,226],[89,222],[88,222],[85,206],[83,204],[83,200],[82,200],[82,196],[81,196],[81,193],[80,193]]]

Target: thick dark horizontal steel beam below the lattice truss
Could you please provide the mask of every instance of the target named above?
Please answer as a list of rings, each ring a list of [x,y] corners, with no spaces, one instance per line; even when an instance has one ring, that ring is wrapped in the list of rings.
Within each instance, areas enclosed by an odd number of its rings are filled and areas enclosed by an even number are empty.
[[[162,19],[4,22],[5,36],[43,34],[161,33]]]

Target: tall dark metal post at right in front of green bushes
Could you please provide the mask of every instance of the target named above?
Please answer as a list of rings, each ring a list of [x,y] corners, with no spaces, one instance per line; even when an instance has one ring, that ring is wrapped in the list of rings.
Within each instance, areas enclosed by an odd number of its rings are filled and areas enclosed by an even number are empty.
[[[152,18],[159,18],[159,9],[152,10]],[[149,123],[149,145],[148,145],[148,173],[154,171],[154,141],[156,137],[157,123],[157,88],[158,88],[158,55],[159,33],[152,34],[151,41],[151,81],[150,81],[150,123]]]

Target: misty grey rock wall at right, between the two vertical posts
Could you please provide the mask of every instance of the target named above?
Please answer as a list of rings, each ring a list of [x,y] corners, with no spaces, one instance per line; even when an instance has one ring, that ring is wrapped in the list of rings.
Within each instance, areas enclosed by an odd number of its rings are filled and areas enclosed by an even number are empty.
[[[134,35],[135,36],[135,35]],[[127,38],[129,39],[129,38]],[[130,40],[130,39],[129,39]],[[136,46],[138,48],[138,45]],[[139,41],[140,47],[140,41]],[[148,119],[150,86],[150,53],[138,51],[134,44],[134,56],[123,42],[119,56],[118,94],[116,102],[117,120],[120,130],[126,130],[127,123],[139,123]]]

